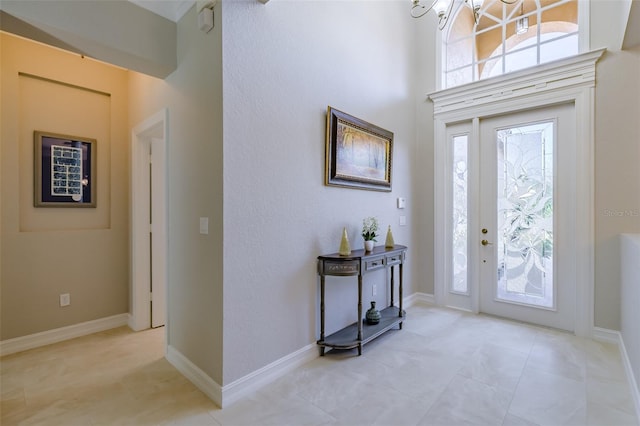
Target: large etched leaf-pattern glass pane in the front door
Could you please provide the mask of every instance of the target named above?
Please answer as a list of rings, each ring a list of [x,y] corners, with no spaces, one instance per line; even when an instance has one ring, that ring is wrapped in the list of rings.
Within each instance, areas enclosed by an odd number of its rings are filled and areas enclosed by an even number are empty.
[[[497,132],[498,300],[554,306],[553,129]]]

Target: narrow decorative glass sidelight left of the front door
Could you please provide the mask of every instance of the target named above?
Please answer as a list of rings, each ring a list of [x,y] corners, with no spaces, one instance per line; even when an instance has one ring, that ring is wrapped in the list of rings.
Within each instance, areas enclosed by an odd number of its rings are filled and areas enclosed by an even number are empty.
[[[452,162],[452,232],[453,232],[453,280],[451,291],[467,293],[467,146],[468,136],[453,137],[453,162]]]

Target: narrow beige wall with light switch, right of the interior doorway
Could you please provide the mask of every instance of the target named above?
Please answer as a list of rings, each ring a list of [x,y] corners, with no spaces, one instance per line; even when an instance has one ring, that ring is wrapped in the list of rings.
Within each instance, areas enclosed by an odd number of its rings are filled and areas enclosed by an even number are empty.
[[[168,109],[168,345],[222,385],[222,42],[192,7],[178,22],[178,67],[159,80],[131,72],[132,127]],[[199,233],[199,218],[209,233]],[[248,350],[245,348],[244,350]]]

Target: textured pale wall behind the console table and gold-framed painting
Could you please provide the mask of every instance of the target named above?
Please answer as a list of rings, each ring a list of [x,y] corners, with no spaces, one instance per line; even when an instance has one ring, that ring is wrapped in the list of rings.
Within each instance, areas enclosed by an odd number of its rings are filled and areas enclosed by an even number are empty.
[[[365,217],[380,222],[377,244],[391,225],[395,242],[409,247],[405,297],[416,291],[414,271],[424,259],[412,197],[417,21],[407,5],[223,2],[222,15],[228,385],[315,345],[316,259],[338,250],[343,227],[359,249]],[[324,185],[328,106],[394,133],[391,192]],[[398,197],[406,209],[396,207]],[[399,226],[400,216],[407,226]],[[367,305],[387,303],[379,272],[366,277]],[[327,279],[327,332],[355,321],[353,280]]]

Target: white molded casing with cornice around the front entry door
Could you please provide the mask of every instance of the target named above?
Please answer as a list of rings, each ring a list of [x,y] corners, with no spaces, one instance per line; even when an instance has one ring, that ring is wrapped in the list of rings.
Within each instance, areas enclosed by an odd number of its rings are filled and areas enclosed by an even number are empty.
[[[446,223],[447,125],[471,121],[471,146],[477,145],[479,119],[533,108],[574,103],[576,114],[576,318],[575,334],[591,336],[594,327],[594,110],[596,62],[604,49],[478,81],[429,95],[434,103],[434,296],[445,305],[448,279],[444,248]],[[471,226],[471,225],[470,225]],[[477,277],[478,271],[470,271]],[[471,311],[479,302],[472,297]]]

